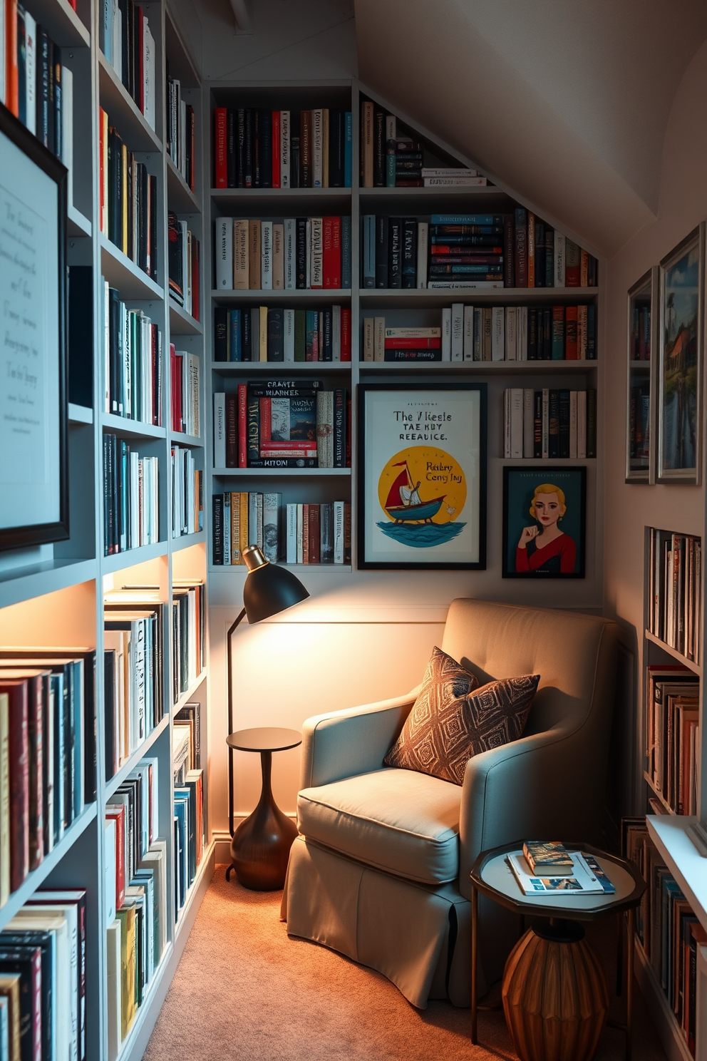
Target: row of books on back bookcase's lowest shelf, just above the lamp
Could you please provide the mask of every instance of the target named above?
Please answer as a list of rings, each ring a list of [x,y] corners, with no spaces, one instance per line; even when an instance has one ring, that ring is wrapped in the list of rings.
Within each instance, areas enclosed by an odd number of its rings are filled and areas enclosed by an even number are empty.
[[[243,564],[247,545],[260,545],[271,563],[351,563],[351,505],[283,505],[281,493],[217,493],[212,545],[218,566]]]

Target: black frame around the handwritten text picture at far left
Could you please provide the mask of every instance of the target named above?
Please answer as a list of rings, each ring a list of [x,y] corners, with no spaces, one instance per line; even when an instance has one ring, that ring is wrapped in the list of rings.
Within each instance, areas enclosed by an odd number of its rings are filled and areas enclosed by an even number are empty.
[[[56,283],[57,292],[57,345],[56,345],[56,392],[52,390],[50,400],[58,403],[57,430],[49,439],[51,447],[56,447],[58,453],[58,486],[56,500],[58,515],[56,519],[45,522],[18,522],[17,525],[0,527],[0,551],[41,545],[48,542],[64,541],[69,537],[69,467],[68,467],[68,276],[67,276],[67,182],[68,171],[47,147],[32,134],[15,116],[0,104],[0,134],[3,134],[11,144],[14,144],[28,159],[32,167],[56,185],[57,214],[57,256]],[[1,146],[1,143],[0,143]],[[0,175],[2,161],[0,151]],[[28,171],[30,173],[31,171]],[[0,176],[1,181],[1,176]],[[52,364],[53,368],[53,364]],[[54,381],[47,381],[53,388]],[[49,428],[47,428],[49,430]],[[0,453],[0,460],[7,459],[7,454]]]

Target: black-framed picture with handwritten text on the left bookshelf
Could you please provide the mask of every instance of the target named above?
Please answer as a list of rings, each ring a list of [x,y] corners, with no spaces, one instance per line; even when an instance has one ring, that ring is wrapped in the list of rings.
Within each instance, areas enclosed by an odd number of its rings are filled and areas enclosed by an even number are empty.
[[[0,106],[0,549],[69,537],[67,171]]]

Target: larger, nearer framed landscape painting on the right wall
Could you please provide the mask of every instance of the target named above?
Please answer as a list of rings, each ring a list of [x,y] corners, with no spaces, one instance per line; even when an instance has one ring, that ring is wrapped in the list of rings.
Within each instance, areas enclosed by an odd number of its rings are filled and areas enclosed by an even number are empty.
[[[704,222],[660,262],[657,482],[700,482]]]

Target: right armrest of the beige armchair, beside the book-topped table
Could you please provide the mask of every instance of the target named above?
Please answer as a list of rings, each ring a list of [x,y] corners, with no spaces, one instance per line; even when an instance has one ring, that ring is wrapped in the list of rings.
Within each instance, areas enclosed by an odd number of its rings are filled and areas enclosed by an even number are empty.
[[[481,851],[518,838],[591,839],[582,831],[586,821],[596,820],[604,793],[593,783],[595,760],[583,729],[563,719],[470,759],[459,820],[462,895],[471,898],[469,875]]]

